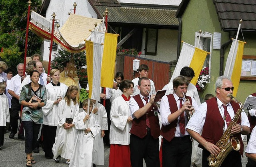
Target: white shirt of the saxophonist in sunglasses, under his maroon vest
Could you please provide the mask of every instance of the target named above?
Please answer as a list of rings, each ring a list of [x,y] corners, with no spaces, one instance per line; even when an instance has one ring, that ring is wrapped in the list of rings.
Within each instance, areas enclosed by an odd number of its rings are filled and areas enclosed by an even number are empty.
[[[223,119],[224,118],[224,108],[222,106],[223,103],[218,98],[217,98],[217,103],[218,103],[219,112]],[[230,103],[228,103],[227,105],[228,105],[228,107],[227,107],[228,114],[230,115],[231,120],[232,120],[235,115],[234,110]],[[201,134],[203,127],[204,127],[206,113],[207,113],[207,104],[206,104],[206,102],[204,102],[198,107],[198,109],[196,110],[194,115],[190,118],[186,128]],[[241,125],[250,127],[250,123],[249,123],[248,117],[245,112],[241,112],[241,118],[242,118]],[[225,122],[225,129],[226,128],[228,128],[228,126]]]

